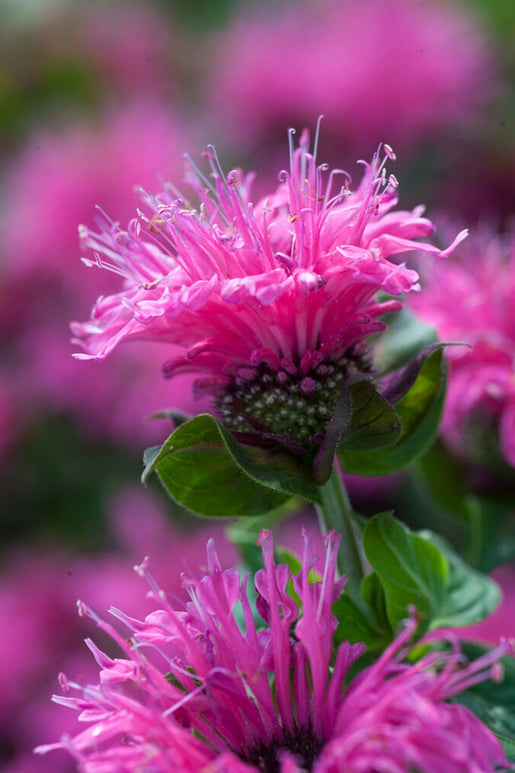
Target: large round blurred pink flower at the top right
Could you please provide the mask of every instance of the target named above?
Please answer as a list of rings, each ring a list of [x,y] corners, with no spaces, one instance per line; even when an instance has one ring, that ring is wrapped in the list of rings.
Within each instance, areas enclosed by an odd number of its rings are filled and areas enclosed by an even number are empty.
[[[255,143],[281,125],[325,126],[354,152],[466,126],[496,89],[493,55],[463,5],[326,0],[244,10],[220,35],[208,81],[229,136]],[[237,66],[235,66],[237,63]]]

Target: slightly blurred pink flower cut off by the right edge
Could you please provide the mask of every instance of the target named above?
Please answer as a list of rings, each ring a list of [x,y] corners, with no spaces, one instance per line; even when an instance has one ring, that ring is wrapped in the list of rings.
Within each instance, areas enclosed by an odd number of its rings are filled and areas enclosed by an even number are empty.
[[[468,344],[447,349],[443,436],[468,461],[515,467],[515,238],[480,231],[431,271],[414,311],[442,340]]]

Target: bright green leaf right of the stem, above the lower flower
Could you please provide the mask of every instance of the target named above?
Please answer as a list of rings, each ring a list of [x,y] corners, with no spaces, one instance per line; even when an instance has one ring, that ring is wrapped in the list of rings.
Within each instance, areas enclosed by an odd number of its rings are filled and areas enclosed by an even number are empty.
[[[386,613],[393,630],[414,605],[427,616],[424,628],[437,616],[449,579],[449,564],[429,540],[411,532],[387,513],[368,522],[363,547],[383,586]]]

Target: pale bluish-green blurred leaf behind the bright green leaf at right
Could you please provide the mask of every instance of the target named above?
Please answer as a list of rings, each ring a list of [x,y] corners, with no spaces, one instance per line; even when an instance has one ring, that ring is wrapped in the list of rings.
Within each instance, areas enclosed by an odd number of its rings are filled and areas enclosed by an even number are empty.
[[[497,584],[485,574],[476,572],[437,534],[419,532],[442,553],[449,564],[449,580],[445,596],[430,628],[459,628],[488,617],[500,601]]]

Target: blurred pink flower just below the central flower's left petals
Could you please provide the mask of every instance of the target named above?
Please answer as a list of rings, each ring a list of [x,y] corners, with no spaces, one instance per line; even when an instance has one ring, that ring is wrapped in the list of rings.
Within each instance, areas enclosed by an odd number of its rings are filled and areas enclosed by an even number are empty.
[[[67,332],[57,324],[41,325],[27,330],[19,342],[18,396],[23,395],[27,405],[27,421],[48,412],[65,412],[75,417],[84,437],[127,442],[140,450],[142,445],[162,442],[171,431],[168,420],[148,420],[156,412],[171,404],[187,414],[208,408],[206,399],[200,406],[193,399],[192,376],[180,376],[172,387],[161,377],[169,348],[138,342],[100,367],[72,357]],[[27,373],[29,383],[24,380]]]

